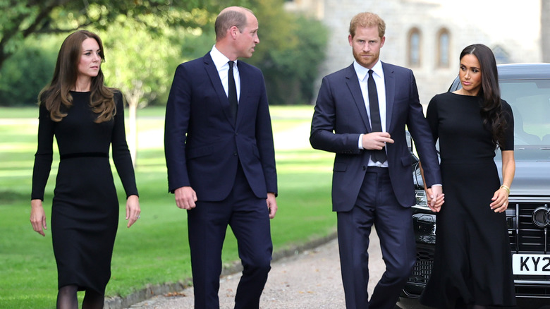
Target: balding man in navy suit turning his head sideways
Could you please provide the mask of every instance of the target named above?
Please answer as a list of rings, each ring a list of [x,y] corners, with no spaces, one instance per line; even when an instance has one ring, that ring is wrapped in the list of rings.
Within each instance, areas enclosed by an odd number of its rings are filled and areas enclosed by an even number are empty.
[[[258,21],[247,8],[216,18],[216,44],[176,69],[166,105],[169,191],[188,210],[195,308],[219,308],[221,248],[227,226],[243,264],[235,308],[258,308],[271,269],[269,219],[277,177],[262,72],[250,58]]]

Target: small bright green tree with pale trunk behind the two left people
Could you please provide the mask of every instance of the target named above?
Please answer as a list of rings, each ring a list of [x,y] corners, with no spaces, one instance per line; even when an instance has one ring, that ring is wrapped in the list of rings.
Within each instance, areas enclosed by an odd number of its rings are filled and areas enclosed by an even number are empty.
[[[149,23],[155,20],[151,16]],[[157,20],[158,23],[158,20]],[[102,31],[106,63],[102,70],[106,84],[120,89],[128,102],[128,146],[135,163],[138,144],[136,114],[138,106],[145,107],[169,91],[173,63],[179,49],[171,42],[171,30],[152,35],[142,23],[120,17]]]

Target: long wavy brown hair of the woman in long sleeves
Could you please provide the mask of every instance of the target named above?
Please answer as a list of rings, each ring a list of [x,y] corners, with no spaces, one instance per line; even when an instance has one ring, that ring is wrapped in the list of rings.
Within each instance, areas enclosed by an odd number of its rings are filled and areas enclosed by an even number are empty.
[[[78,63],[82,55],[82,42],[92,38],[99,45],[99,55],[105,61],[103,43],[98,35],[86,30],[79,30],[69,35],[59,49],[54,77],[51,83],[44,87],[38,96],[39,104],[44,104],[53,121],[61,121],[67,116],[67,111],[73,105],[71,89],[75,86],[78,77]],[[92,77],[90,86],[90,107],[98,114],[96,123],[109,121],[116,113],[114,89],[104,85],[104,76],[101,67],[97,76]]]

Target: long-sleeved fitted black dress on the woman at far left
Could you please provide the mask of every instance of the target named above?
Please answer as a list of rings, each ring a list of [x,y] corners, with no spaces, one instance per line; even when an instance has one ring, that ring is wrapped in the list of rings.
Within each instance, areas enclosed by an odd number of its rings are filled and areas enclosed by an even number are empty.
[[[138,195],[124,128],[123,99],[115,92],[116,115],[95,123],[90,92],[71,92],[73,106],[59,122],[39,108],[38,150],[32,175],[32,199],[44,200],[51,169],[53,138],[59,169],[51,208],[51,238],[58,286],[76,285],[104,294],[111,277],[111,256],[118,226],[118,198],[109,163],[113,161],[126,195]]]

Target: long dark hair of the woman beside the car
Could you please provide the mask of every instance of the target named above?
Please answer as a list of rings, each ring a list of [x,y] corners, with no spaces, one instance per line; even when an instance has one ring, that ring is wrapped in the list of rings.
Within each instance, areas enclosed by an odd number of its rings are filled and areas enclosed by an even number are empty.
[[[484,44],[473,44],[466,47],[460,53],[460,59],[467,54],[476,56],[479,66],[481,66],[482,87],[477,95],[483,99],[480,111],[483,124],[491,131],[494,143],[503,146],[505,141],[504,130],[507,123],[502,114],[499,72],[496,69],[494,54]]]

